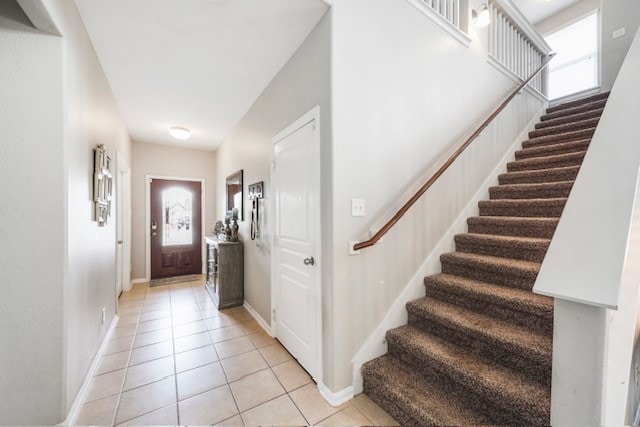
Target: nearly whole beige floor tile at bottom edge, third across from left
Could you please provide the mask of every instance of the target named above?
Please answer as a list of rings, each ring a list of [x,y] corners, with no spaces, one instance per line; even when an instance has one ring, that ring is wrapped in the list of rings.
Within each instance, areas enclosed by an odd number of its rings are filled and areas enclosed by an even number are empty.
[[[211,425],[238,413],[228,385],[178,403],[181,425]]]

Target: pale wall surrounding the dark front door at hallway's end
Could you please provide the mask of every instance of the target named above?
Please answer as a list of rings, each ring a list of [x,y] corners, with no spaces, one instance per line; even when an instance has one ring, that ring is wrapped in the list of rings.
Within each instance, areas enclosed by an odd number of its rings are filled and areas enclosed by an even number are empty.
[[[146,275],[146,175],[200,178],[205,182],[204,234],[211,234],[216,220],[216,154],[213,151],[147,144],[135,141],[132,149],[132,250],[131,277]],[[148,279],[148,278],[147,278]]]

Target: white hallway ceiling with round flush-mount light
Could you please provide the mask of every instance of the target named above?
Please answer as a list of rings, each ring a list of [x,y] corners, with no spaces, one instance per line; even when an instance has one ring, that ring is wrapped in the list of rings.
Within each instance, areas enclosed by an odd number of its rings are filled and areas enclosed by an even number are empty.
[[[75,0],[133,140],[215,150],[300,46],[321,0]],[[171,126],[187,127],[178,141]]]

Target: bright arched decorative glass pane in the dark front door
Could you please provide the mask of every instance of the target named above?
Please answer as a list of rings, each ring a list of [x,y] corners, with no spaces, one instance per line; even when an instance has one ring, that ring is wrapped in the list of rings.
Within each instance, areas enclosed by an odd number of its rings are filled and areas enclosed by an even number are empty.
[[[172,187],[162,192],[162,246],[193,243],[193,193]]]

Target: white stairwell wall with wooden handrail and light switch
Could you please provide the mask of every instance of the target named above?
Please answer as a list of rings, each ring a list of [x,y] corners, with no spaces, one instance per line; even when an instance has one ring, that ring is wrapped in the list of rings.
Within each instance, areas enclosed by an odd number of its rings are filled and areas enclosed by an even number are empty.
[[[471,1],[470,8],[479,4]],[[516,83],[487,63],[486,28],[471,27],[466,47],[406,1],[353,0],[332,9],[334,254],[327,333],[334,366],[325,384],[337,392],[351,384],[357,349],[542,102],[518,97],[383,243],[349,256],[348,242],[364,240],[389,219],[414,180]],[[366,200],[364,218],[351,217],[351,198]]]

